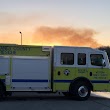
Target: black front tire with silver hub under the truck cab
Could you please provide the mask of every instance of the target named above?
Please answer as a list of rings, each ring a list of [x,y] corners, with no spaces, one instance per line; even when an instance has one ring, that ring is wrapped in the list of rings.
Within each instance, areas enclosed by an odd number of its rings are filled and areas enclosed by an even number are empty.
[[[90,97],[91,89],[86,82],[80,81],[70,85],[70,93],[76,100],[84,101]]]

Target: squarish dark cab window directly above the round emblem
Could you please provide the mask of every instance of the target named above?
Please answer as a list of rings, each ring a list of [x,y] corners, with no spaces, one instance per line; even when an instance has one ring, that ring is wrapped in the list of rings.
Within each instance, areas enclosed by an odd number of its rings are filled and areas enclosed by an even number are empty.
[[[62,65],[73,65],[74,54],[73,53],[61,53],[61,64]]]

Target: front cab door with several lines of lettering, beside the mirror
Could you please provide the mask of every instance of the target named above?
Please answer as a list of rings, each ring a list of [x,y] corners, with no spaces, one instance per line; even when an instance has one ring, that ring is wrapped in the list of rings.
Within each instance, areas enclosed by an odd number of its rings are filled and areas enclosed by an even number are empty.
[[[103,53],[90,53],[89,65],[88,65],[88,78],[93,83],[95,91],[107,91],[108,90],[108,67],[102,66],[102,59],[106,60]]]

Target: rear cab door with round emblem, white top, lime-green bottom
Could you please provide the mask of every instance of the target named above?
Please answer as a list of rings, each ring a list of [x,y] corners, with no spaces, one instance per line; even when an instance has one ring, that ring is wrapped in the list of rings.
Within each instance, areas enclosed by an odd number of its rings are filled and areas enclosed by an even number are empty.
[[[75,49],[55,47],[53,68],[53,90],[68,91],[75,76]]]

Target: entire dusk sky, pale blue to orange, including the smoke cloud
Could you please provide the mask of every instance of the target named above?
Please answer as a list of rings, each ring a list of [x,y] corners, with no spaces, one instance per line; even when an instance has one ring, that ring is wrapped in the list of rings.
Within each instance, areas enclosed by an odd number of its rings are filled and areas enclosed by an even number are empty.
[[[110,46],[110,0],[0,0],[0,43]]]

